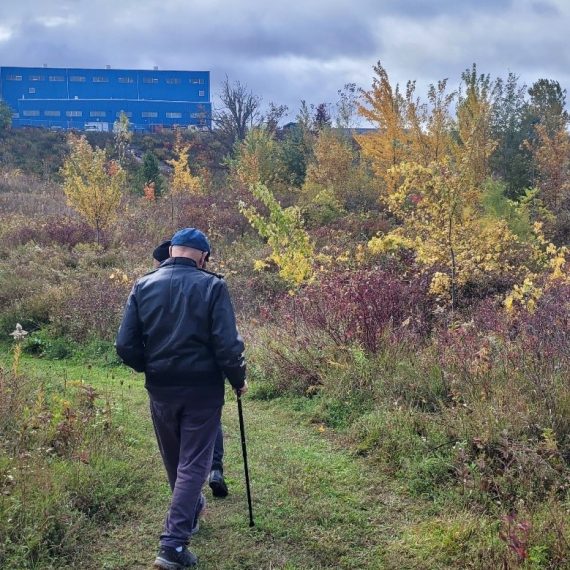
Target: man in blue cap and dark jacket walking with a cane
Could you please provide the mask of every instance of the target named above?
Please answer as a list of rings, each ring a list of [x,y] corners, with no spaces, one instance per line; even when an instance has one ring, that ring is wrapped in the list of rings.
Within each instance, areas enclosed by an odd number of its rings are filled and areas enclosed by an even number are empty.
[[[186,544],[204,505],[224,403],[224,376],[247,391],[244,345],[223,279],[204,269],[206,236],[195,228],[171,240],[170,258],[139,279],[119,328],[117,353],[145,373],[150,409],[172,500],[155,566],[197,564]]]

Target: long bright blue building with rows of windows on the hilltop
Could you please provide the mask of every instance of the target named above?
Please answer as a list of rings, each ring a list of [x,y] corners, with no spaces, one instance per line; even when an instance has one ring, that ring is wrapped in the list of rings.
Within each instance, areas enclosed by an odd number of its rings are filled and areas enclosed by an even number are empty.
[[[109,131],[124,112],[135,131],[211,126],[209,71],[0,67],[13,127]]]

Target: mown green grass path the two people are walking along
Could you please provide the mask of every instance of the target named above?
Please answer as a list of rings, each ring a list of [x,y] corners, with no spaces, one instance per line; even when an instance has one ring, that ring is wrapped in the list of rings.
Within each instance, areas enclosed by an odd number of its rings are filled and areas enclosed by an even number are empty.
[[[141,378],[122,369],[69,363],[25,365],[41,366],[52,378],[83,380],[109,394],[116,402],[116,421],[125,425],[149,464],[141,500],[101,530],[85,549],[81,568],[151,568],[169,489]],[[411,560],[406,565],[398,553],[402,532],[422,518],[421,505],[390,490],[373,465],[343,449],[288,400],[244,398],[256,521],[250,529],[237,406],[231,393],[227,400],[223,423],[230,496],[213,499],[206,490],[208,508],[191,545],[200,569],[422,567]]]

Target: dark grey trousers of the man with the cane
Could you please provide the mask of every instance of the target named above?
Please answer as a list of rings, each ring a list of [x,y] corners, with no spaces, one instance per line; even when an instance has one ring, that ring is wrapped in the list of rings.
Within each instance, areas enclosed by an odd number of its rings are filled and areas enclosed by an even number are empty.
[[[160,536],[161,546],[185,545],[194,524],[202,486],[212,465],[222,408],[151,398],[150,411],[172,500]]]

